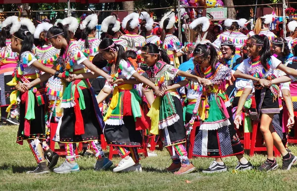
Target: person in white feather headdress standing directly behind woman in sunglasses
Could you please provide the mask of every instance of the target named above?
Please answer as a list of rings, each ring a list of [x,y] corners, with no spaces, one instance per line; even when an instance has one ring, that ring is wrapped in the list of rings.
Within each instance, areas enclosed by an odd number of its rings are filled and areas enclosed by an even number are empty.
[[[213,42],[213,45],[220,49],[221,43],[223,40],[232,41],[236,47],[236,54],[240,55],[241,48],[247,40],[247,36],[239,31],[240,28],[244,27],[247,23],[247,19],[226,19],[224,24],[226,27],[229,27],[224,33],[220,34],[217,39]]]

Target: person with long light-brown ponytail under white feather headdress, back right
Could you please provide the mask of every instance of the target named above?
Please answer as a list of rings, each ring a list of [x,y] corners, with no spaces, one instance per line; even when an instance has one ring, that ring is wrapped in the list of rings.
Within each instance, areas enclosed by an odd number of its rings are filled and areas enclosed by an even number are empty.
[[[267,14],[262,17],[259,17],[256,20],[253,31],[250,31],[247,34],[247,37],[251,37],[253,35],[264,35],[268,37],[269,40],[276,38],[277,36],[269,30],[270,24],[275,20],[275,18],[276,14],[274,11],[272,12],[272,14]]]

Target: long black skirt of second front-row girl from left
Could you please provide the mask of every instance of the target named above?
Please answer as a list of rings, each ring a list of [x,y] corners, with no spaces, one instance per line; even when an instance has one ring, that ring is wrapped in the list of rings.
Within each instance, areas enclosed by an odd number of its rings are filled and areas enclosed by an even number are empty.
[[[86,109],[81,110],[84,120],[85,134],[75,135],[76,115],[74,108],[64,108],[63,116],[60,119],[59,137],[62,143],[87,142],[99,140],[102,134],[102,115],[99,112],[98,103],[95,100],[92,89],[82,90]],[[92,95],[93,94],[93,95]]]

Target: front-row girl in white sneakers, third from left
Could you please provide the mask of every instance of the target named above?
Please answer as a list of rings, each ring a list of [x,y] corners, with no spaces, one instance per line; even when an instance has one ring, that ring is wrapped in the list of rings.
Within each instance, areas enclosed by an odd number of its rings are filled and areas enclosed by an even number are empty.
[[[103,132],[106,142],[109,146],[113,146],[122,157],[113,172],[142,172],[137,148],[142,146],[141,130],[148,128],[148,122],[140,106],[141,98],[138,91],[125,80],[135,78],[155,91],[158,88],[136,72],[121,45],[109,38],[104,38],[99,45],[99,50],[109,63],[104,71],[108,72],[114,80],[121,80],[120,83],[111,87],[113,89],[111,104],[104,116]]]

